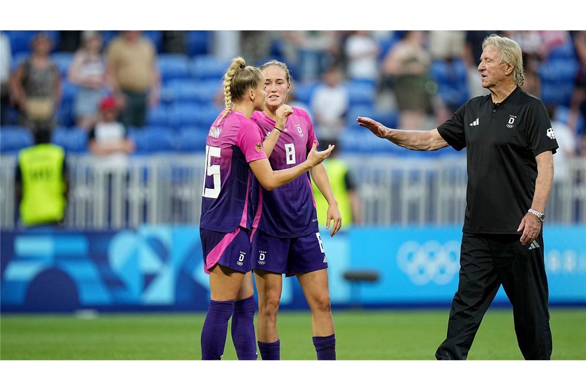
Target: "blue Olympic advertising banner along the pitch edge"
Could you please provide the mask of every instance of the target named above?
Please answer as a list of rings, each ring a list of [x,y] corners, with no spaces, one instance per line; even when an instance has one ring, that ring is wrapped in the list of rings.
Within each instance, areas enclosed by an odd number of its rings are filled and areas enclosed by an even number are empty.
[[[354,228],[330,237],[333,305],[449,305],[458,287],[461,229]],[[586,304],[586,227],[546,227],[551,304]],[[206,310],[199,229],[143,226],[120,232],[37,229],[0,235],[2,311]],[[349,284],[346,271],[379,280]],[[502,289],[496,302],[507,302]],[[285,278],[282,308],[308,308],[297,278]]]

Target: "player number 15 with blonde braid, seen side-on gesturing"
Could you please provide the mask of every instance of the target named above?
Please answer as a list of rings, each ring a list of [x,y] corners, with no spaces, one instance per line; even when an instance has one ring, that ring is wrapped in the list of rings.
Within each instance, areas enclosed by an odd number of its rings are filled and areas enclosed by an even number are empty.
[[[248,168],[264,188],[271,190],[320,164],[333,145],[318,152],[314,142],[304,164],[272,171],[260,129],[250,120],[254,110],[265,107],[263,73],[237,57],[224,75],[224,96],[226,108],[210,127],[206,140],[199,227],[204,267],[210,274],[211,300],[202,329],[202,359],[222,357],[228,319],[233,313],[232,335],[238,358],[256,359],[256,304],[247,229]],[[282,118],[281,121],[284,123]],[[275,139],[276,136],[268,139],[267,144],[274,145]],[[243,284],[246,273],[249,278]]]

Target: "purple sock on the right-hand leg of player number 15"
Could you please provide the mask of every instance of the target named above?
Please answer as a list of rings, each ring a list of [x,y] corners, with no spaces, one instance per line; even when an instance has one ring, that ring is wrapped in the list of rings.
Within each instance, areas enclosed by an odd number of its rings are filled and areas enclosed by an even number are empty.
[[[239,360],[257,359],[256,338],[254,336],[254,296],[234,302],[232,317],[232,341]]]

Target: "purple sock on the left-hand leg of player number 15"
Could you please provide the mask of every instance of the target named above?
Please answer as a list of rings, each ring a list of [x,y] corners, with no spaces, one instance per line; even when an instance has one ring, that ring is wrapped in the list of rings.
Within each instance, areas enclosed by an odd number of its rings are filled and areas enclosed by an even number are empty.
[[[210,300],[202,328],[202,360],[220,360],[226,345],[228,319],[234,311],[234,301]]]

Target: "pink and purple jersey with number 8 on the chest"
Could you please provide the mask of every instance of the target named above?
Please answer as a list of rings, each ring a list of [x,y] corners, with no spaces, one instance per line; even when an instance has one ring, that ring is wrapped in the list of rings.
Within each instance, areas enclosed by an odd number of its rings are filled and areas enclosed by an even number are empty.
[[[275,121],[262,111],[251,117],[260,127],[263,140],[275,126]],[[277,130],[274,130],[277,132]],[[274,171],[291,168],[305,161],[314,140],[314,125],[305,110],[294,107],[287,117],[285,129],[268,159]],[[309,173],[273,191],[266,191],[254,178],[248,219],[252,226],[272,236],[299,237],[318,231],[315,199]]]

